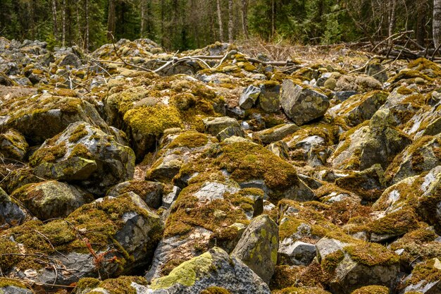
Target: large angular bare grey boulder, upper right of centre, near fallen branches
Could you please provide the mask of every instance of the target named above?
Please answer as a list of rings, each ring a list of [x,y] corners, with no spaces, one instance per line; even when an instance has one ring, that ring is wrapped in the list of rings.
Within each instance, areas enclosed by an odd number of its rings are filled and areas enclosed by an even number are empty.
[[[292,121],[304,125],[325,114],[329,107],[328,97],[320,92],[295,85],[292,80],[284,80],[280,104]]]

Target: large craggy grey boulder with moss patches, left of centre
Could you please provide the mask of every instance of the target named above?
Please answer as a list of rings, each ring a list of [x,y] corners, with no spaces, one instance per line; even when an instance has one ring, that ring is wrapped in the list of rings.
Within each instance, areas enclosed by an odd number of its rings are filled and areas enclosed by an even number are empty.
[[[116,183],[132,179],[135,154],[99,128],[78,122],[46,140],[30,157],[30,166],[41,178],[80,183],[101,196]]]

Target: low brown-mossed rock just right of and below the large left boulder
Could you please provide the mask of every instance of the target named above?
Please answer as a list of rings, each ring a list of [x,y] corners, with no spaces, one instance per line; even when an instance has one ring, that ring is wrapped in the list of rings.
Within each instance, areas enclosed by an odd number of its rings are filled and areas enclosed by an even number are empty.
[[[162,183],[150,182],[148,180],[129,180],[119,183],[107,191],[107,196],[117,197],[125,192],[134,192],[142,198],[149,207],[158,209],[162,204],[163,197]]]

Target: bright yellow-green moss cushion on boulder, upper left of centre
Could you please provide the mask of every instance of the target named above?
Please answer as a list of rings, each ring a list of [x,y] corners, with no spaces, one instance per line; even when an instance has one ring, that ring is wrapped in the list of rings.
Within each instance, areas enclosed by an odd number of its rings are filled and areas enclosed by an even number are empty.
[[[124,121],[136,133],[159,136],[168,128],[182,128],[182,121],[173,106],[156,104],[130,109],[124,115]]]

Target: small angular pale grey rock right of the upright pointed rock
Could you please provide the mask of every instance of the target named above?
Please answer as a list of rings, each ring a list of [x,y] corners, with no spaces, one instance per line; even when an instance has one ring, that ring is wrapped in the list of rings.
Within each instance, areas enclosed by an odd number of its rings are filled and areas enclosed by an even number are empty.
[[[316,257],[316,245],[304,243],[302,241],[288,242],[291,238],[286,238],[279,245],[278,256],[280,262],[289,265],[308,266]]]

